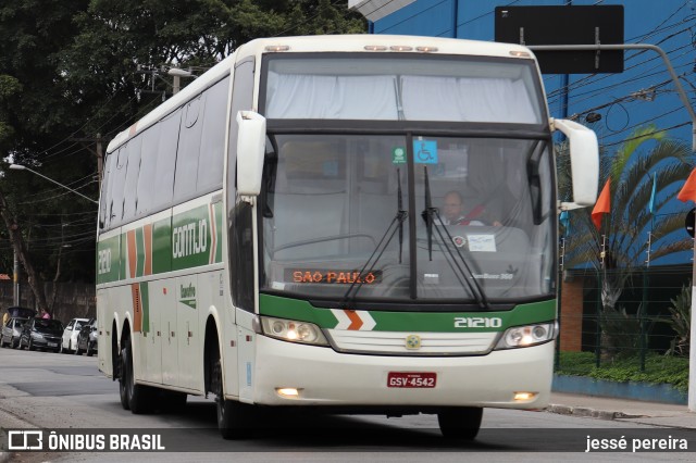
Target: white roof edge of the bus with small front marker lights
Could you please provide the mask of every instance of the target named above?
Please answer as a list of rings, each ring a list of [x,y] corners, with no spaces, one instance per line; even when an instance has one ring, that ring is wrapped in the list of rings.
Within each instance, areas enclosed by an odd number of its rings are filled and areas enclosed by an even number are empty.
[[[228,75],[237,58],[244,59],[249,55],[260,55],[268,52],[415,52],[534,59],[532,51],[520,45],[442,37],[362,34],[259,38],[237,48],[234,53],[196,78],[182,91],[146,114],[127,129],[117,134],[109,143],[107,152],[112,152],[138,132],[154,124],[213,83]]]

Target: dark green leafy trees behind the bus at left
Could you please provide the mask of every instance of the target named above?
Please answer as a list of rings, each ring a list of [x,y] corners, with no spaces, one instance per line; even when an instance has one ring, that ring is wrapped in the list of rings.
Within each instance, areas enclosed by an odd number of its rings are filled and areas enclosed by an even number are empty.
[[[166,77],[138,72],[138,66],[203,72],[257,37],[365,30],[365,21],[345,1],[4,2],[0,158],[96,198],[97,134],[105,146],[172,89]],[[152,89],[157,95],[148,92]],[[13,242],[0,247],[0,272],[10,273],[17,249],[45,309],[51,298],[42,293],[42,280],[94,280],[96,211],[41,178],[8,172],[7,161],[0,170],[7,228],[0,236]]]

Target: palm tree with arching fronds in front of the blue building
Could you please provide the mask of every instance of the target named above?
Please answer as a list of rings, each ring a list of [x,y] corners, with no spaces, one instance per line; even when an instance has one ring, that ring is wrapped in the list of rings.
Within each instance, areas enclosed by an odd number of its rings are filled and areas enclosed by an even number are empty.
[[[559,189],[561,198],[566,198],[570,190],[569,161],[566,147],[560,148],[557,163]],[[627,279],[644,268],[648,246],[650,261],[693,247],[691,237],[683,232],[682,215],[659,214],[660,209],[676,197],[678,185],[688,177],[693,157],[691,147],[667,138],[654,126],[637,129],[618,151],[604,150],[600,157],[599,186],[609,179],[610,212],[602,217],[599,230],[591,220],[591,209],[570,212],[570,224],[562,227],[564,265],[567,268],[586,267],[601,273],[600,323],[611,323],[621,328],[622,324],[625,327],[629,322],[637,323],[636,318],[630,318],[622,308],[617,306],[617,301]],[[648,204],[654,182],[656,200],[650,212]],[[602,339],[604,342],[616,346],[616,339]]]

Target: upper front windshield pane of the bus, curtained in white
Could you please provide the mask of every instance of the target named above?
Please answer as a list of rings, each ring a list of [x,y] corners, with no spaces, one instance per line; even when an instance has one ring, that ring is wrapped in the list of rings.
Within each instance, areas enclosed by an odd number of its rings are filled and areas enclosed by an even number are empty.
[[[281,53],[265,67],[268,118],[544,122],[531,60]]]

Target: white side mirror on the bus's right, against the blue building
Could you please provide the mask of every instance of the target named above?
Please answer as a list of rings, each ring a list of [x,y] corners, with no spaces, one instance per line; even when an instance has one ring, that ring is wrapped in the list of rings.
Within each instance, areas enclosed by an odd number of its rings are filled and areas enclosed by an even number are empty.
[[[599,145],[597,135],[584,125],[568,120],[554,120],[551,126],[568,137],[570,146],[573,202],[561,203],[561,209],[586,208],[597,201],[599,187]]]

